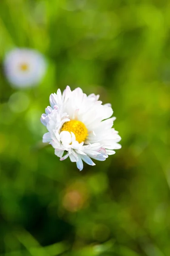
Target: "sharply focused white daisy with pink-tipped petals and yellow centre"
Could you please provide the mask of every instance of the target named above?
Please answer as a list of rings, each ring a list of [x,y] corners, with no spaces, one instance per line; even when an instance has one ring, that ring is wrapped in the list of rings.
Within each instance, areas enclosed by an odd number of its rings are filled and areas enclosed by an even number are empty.
[[[63,93],[57,90],[50,95],[50,105],[45,108],[41,122],[48,129],[42,142],[55,149],[60,160],[70,158],[77,168],[83,169],[82,160],[94,166],[92,159],[104,161],[121,148],[121,137],[112,128],[111,104],[102,105],[99,95],[87,96],[82,89],[71,91],[67,86]]]

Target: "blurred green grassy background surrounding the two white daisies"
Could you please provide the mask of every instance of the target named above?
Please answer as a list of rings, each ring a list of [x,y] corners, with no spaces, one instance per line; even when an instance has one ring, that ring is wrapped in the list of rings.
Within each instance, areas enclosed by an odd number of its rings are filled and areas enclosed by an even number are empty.
[[[43,81],[13,89],[13,47]],[[82,172],[42,144],[58,88],[111,102],[122,149]],[[0,256],[170,256],[170,2],[0,0]]]

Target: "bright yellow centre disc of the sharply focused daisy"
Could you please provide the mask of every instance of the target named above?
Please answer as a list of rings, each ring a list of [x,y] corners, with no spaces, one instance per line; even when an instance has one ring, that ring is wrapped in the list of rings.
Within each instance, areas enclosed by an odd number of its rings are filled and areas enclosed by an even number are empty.
[[[88,129],[81,121],[70,120],[62,125],[61,131],[73,132],[76,136],[76,140],[81,143],[88,137]]]

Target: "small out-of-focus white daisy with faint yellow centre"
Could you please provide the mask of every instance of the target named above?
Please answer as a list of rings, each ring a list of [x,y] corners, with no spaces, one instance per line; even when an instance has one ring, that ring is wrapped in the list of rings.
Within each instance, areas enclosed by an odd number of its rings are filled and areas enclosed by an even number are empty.
[[[16,48],[6,54],[4,68],[14,87],[30,87],[38,84],[44,76],[46,61],[36,50]]]

